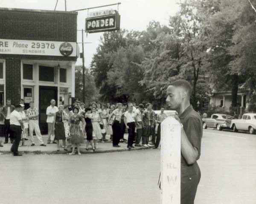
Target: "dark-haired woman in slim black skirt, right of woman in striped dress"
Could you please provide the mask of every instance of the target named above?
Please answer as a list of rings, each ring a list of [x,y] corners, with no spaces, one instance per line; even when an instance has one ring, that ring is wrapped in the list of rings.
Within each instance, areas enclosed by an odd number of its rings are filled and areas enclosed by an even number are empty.
[[[85,132],[86,132],[86,139],[87,139],[87,144],[86,144],[86,150],[88,150],[89,144],[91,144],[93,148],[93,152],[95,151],[95,148],[93,147],[93,125],[91,122],[91,119],[93,119],[90,115],[91,109],[86,108],[85,113],[84,113],[84,120],[85,120]]]

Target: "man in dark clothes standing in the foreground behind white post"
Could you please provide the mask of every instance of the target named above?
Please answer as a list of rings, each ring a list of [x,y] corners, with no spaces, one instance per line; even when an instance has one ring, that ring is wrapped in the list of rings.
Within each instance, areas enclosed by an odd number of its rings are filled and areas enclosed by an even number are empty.
[[[186,80],[176,80],[167,88],[167,104],[178,115],[173,115],[181,124],[180,204],[194,204],[201,178],[197,160],[201,154],[203,123],[201,116],[190,105],[191,86]]]

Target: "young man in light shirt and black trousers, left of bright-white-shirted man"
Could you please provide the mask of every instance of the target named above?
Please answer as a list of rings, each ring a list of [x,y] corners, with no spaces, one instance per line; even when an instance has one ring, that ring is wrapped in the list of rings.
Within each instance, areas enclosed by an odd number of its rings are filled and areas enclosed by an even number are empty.
[[[109,115],[108,123],[110,118],[114,115],[115,121],[113,122],[112,129],[113,129],[113,136],[112,136],[112,143],[113,147],[121,147],[119,144],[120,136],[121,136],[121,116],[122,116],[122,103],[117,103],[117,109],[113,110],[113,112]]]

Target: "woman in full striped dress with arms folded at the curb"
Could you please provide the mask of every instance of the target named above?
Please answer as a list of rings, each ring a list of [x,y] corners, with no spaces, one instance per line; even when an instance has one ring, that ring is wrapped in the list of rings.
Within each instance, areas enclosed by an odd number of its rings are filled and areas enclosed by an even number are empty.
[[[79,126],[80,121],[84,121],[82,116],[78,114],[79,108],[73,108],[74,114],[70,117],[70,143],[72,144],[72,152],[69,153],[70,155],[75,154],[75,147],[77,147],[78,155],[80,153],[80,144],[84,142],[84,134]]]

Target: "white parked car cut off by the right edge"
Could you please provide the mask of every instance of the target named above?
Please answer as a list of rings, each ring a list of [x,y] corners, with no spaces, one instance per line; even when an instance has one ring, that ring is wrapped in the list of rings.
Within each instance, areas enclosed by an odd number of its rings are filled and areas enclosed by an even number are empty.
[[[230,127],[233,129],[233,132],[249,130],[250,134],[254,134],[256,129],[256,113],[245,113],[242,119],[232,120]]]

